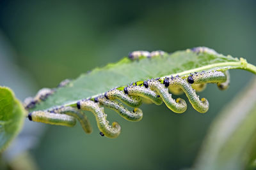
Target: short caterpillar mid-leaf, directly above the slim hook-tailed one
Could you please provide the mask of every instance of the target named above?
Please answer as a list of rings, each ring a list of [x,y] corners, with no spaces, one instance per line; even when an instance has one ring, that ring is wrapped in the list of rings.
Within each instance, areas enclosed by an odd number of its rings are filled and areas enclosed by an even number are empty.
[[[142,104],[140,97],[138,96],[131,97],[128,94],[125,94],[125,92],[120,89],[109,90],[104,94],[104,96],[110,100],[118,99],[123,103],[127,104],[127,106],[131,106],[132,108],[138,108]]]

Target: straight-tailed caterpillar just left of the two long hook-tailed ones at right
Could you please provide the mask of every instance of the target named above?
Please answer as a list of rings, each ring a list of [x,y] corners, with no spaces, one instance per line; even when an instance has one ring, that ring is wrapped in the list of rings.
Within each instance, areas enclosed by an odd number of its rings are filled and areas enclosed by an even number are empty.
[[[147,82],[147,81],[145,81]],[[146,85],[147,86],[147,85]],[[147,86],[148,87],[148,86]],[[148,99],[154,104],[160,105],[163,103],[161,97],[156,94],[153,90],[146,88],[145,86],[128,86],[125,87],[124,91],[131,96],[140,96]]]

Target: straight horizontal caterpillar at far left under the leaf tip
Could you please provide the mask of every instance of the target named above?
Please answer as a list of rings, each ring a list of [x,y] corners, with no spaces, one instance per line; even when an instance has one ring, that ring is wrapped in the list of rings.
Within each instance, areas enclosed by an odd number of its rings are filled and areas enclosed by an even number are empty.
[[[74,117],[47,111],[33,111],[29,113],[28,118],[33,122],[42,122],[44,124],[65,125],[68,127],[76,125],[76,118]]]

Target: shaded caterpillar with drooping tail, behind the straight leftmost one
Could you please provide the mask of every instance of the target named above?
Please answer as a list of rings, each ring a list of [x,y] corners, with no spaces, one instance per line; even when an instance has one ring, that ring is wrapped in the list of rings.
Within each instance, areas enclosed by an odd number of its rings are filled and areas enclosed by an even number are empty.
[[[90,125],[88,118],[82,111],[79,111],[76,108],[72,108],[70,106],[66,106],[55,108],[54,110],[52,110],[52,112],[75,117],[80,122],[84,132],[86,132],[87,134],[90,134],[92,132],[92,126]]]

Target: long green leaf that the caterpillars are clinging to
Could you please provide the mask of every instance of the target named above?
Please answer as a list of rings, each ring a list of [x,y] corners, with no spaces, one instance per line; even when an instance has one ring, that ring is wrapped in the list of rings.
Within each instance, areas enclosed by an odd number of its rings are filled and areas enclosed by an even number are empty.
[[[212,52],[196,53],[192,50],[184,50],[153,59],[145,58],[134,61],[125,57],[115,64],[108,64],[105,67],[93,69],[90,73],[82,74],[67,87],[56,89],[52,96],[49,96],[46,101],[36,104],[36,108],[30,111],[76,103],[79,99],[97,96],[114,87],[130,84],[132,81],[170,76],[171,74],[183,76],[195,71],[210,69],[222,71],[246,69],[256,73],[255,66],[248,64],[244,59],[239,60],[230,55],[226,57]]]

